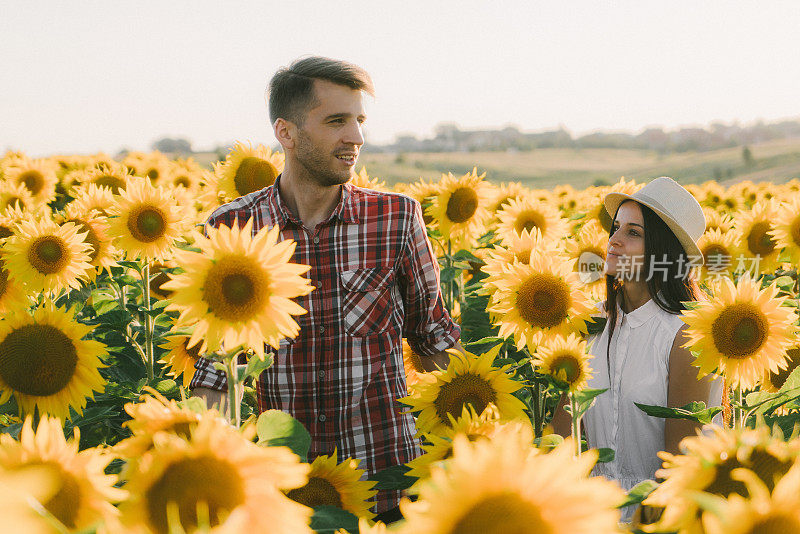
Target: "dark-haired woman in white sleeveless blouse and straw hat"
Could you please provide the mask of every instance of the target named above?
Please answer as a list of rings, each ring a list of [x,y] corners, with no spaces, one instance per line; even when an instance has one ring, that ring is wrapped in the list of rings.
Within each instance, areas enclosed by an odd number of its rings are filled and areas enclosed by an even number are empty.
[[[702,400],[719,405],[721,387],[697,380],[694,358],[683,347],[682,303],[702,298],[690,273],[703,258],[696,244],[705,230],[700,205],[667,177],[633,195],[611,193],[604,203],[613,216],[607,298],[601,305],[607,322],[591,344],[589,387],[608,391],[583,420],[591,447],[615,451],[614,461],[598,464],[594,473],[629,490],[655,477],[659,451],[677,453],[678,443],[697,428],[690,421],[650,417],[634,403],[683,406]],[[624,520],[633,513],[628,508]]]

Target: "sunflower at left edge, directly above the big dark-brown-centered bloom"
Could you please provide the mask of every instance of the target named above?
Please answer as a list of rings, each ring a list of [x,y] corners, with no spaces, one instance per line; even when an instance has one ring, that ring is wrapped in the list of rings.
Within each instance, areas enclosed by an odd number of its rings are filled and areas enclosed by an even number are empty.
[[[91,246],[73,223],[58,226],[53,221],[26,220],[4,245],[8,274],[31,293],[57,293],[78,289],[91,269]]]

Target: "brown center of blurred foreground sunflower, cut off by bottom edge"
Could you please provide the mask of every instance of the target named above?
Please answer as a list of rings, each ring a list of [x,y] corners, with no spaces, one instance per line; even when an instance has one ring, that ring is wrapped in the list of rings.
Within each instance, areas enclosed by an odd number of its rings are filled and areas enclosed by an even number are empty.
[[[516,493],[488,495],[473,504],[450,530],[451,534],[552,534],[553,527],[535,504]]]

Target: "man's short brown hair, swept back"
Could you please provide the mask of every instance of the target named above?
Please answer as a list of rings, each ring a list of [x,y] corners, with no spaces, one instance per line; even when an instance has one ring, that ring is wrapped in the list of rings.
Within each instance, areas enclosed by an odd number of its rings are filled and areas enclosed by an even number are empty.
[[[346,61],[311,56],[282,67],[269,82],[269,118],[274,124],[279,118],[302,124],[306,112],[314,107],[314,80],[327,80],[374,96],[367,71]]]

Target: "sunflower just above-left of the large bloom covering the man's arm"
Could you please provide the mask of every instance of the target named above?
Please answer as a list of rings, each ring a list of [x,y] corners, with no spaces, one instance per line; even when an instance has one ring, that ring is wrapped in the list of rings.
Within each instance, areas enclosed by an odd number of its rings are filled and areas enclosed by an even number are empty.
[[[128,258],[167,257],[185,223],[182,210],[169,194],[144,178],[129,178],[110,211],[117,215],[111,220],[111,235],[117,236],[116,246],[126,251]]]

